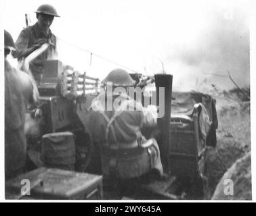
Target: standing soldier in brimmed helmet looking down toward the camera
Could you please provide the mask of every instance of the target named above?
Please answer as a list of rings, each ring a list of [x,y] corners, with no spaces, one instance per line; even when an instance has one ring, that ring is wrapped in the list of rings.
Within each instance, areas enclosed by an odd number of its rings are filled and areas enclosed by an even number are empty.
[[[38,82],[41,79],[42,61],[51,59],[58,55],[56,47],[56,36],[51,33],[50,26],[54,21],[54,17],[59,17],[57,11],[51,5],[41,5],[37,11],[37,23],[33,26],[28,26],[18,36],[16,47],[19,51],[16,53],[18,59],[27,57],[43,44],[47,44],[48,48],[39,55],[33,62],[30,63],[30,70],[33,73],[35,80]]]

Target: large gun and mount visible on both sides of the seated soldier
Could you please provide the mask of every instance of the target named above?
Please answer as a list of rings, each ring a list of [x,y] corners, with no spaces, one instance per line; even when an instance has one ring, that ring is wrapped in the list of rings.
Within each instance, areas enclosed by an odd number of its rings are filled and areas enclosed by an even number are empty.
[[[38,86],[41,99],[39,107],[45,119],[42,132],[43,134],[72,132],[76,142],[75,170],[87,171],[85,168],[91,155],[91,140],[85,133],[83,121],[87,121],[86,111],[93,98],[98,95],[100,80],[91,78],[86,73],[74,72],[72,67],[63,66],[57,60],[45,61],[43,68],[43,76]],[[199,194],[205,192],[207,186],[204,157],[206,141],[200,136],[199,123],[202,95],[196,94],[200,99],[194,100],[196,105],[193,105],[190,115],[175,113],[177,105],[182,107],[186,103],[177,100],[180,95],[172,92],[173,76],[170,74],[156,74],[151,77],[142,76],[142,74],[131,74],[131,76],[135,77],[136,86],[139,88],[148,87],[155,82],[155,87],[150,88],[149,94],[143,93],[144,106],[154,104],[160,108],[161,100],[164,101],[161,107],[163,116],[158,118],[158,128],[161,132],[158,146],[164,172],[168,178],[166,181],[156,181],[140,186],[139,198],[181,199],[185,198],[182,192],[192,194],[195,191]],[[160,93],[161,89],[164,89],[163,94]],[[147,91],[146,88],[144,90]],[[171,109],[174,112],[171,113]]]

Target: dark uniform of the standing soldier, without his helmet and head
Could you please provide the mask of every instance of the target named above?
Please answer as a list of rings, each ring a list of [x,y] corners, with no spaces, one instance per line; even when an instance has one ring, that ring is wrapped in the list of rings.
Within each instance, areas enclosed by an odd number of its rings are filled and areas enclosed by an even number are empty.
[[[30,63],[30,70],[37,81],[40,80],[40,74],[42,73],[42,61],[46,59],[53,59],[58,56],[56,36],[50,29],[49,32],[43,32],[36,23],[33,26],[24,28],[24,30],[20,32],[16,41],[16,47],[18,48],[18,53],[16,55],[18,59],[22,59],[23,57],[26,57],[24,56],[24,50],[36,45],[40,39],[45,39],[49,44],[49,47]]]

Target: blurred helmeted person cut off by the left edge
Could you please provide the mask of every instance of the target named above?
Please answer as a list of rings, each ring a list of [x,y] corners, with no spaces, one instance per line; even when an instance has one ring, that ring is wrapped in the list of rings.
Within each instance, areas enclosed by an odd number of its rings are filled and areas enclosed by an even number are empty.
[[[26,138],[24,132],[26,106],[38,99],[33,78],[13,68],[7,55],[16,50],[9,32],[5,31],[5,179],[24,169]],[[35,81],[34,81],[35,82]]]

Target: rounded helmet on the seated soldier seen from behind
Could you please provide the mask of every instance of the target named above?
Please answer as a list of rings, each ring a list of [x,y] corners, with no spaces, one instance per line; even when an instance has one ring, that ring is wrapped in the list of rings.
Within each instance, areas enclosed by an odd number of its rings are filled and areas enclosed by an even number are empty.
[[[123,69],[112,70],[102,82],[104,84],[112,82],[114,86],[133,86],[135,84],[135,81]]]

